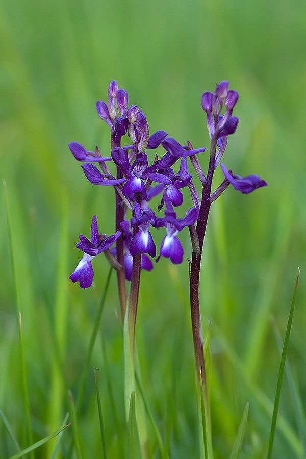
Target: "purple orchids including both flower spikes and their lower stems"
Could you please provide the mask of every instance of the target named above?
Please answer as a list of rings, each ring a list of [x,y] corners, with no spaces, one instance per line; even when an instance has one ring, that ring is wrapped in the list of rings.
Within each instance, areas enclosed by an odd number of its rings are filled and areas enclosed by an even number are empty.
[[[192,259],[189,260],[190,310],[195,352],[198,389],[203,394],[201,416],[206,425],[206,438],[211,438],[209,421],[209,397],[206,379],[206,359],[203,347],[203,335],[199,304],[199,279],[202,247],[212,203],[229,186],[233,185],[242,193],[250,193],[267,183],[258,175],[241,177],[221,163],[227,145],[227,138],[234,134],[238,117],[233,116],[233,109],[238,100],[238,93],[228,89],[228,82],[216,85],[215,92],[202,95],[202,108],[207,114],[207,127],[210,137],[209,165],[205,174],[198,158],[206,148],[194,149],[188,141],[181,145],[165,131],[149,135],[148,124],[142,110],[136,105],[127,107],[127,93],[118,89],[116,81],[111,81],[108,89],[107,104],[96,103],[98,115],[111,128],[110,156],[102,157],[98,147],[87,151],[78,142],[69,143],[75,159],[83,162],[81,166],[85,176],[94,185],[112,185],[115,190],[115,232],[107,237],[99,235],[96,216],[92,218],[90,241],[80,235],[77,247],[83,251],[83,257],[70,279],[80,282],[80,287],[90,287],[93,281],[91,262],[99,253],[104,252],[111,266],[116,269],[118,294],[123,324],[124,341],[124,398],[127,419],[135,390],[134,342],[135,324],[138,306],[141,269],[151,271],[151,259],[156,257],[157,249],[151,235],[151,228],[166,228],[166,235],[161,243],[159,255],[170,258],[174,264],[182,263],[184,249],[177,235],[188,226]],[[224,109],[224,110],[223,110]],[[221,114],[223,112],[223,115]],[[121,145],[121,139],[127,135],[129,143]],[[159,159],[151,155],[150,150],[162,146],[165,150]],[[188,158],[201,184],[199,195],[188,169]],[[179,171],[173,166],[179,163]],[[108,168],[115,165],[113,175]],[[212,192],[215,169],[220,164],[224,180]],[[177,217],[174,208],[183,205],[182,189],[188,187],[193,207],[186,210],[185,217]],[[151,209],[151,199],[161,195],[161,202],[156,211]],[[157,212],[164,209],[164,216]],[[127,215],[130,218],[127,218]],[[116,246],[111,247],[114,242]],[[127,293],[127,285],[130,292]],[[199,393],[198,391],[198,393]],[[199,404],[202,406],[202,403]],[[129,421],[130,422],[130,421]]]

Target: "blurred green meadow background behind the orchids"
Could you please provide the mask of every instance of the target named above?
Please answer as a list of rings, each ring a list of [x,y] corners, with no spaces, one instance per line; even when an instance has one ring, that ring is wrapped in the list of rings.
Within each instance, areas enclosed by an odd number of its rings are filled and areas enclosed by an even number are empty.
[[[240,121],[224,164],[242,176],[259,174],[268,187],[251,195],[229,188],[214,203],[201,271],[202,321],[205,327],[208,319],[212,324],[215,455],[229,456],[249,401],[242,457],[262,457],[279,365],[273,317],[283,336],[297,266],[301,278],[289,360],[299,406],[306,404],[305,2],[1,0],[0,8],[0,171],[12,218],[34,439],[60,427],[69,410],[67,389],[77,393],[96,297],[108,272],[106,260],[98,257],[94,289],[83,291],[69,281],[80,259],[78,236],[89,236],[94,214],[100,233],[114,232],[113,190],[86,181],[67,144],[75,140],[88,150],[98,145],[109,155],[109,127],[98,118],[95,103],[107,100],[109,82],[117,80],[129,94],[129,105],[143,109],[150,133],[163,129],[181,144],[208,146],[201,94],[228,80],[239,92],[234,114]],[[205,170],[207,156],[199,159]],[[216,175],[217,187],[220,171]],[[25,447],[3,191],[0,213],[0,406]],[[158,233],[156,241],[162,237]],[[181,234],[184,240],[190,257],[187,231]],[[122,423],[115,275],[111,283],[102,329]],[[171,457],[199,457],[187,261],[172,266],[163,259],[152,273],[143,273],[136,341],[144,389],[163,436],[167,413],[175,406]],[[57,346],[61,370],[55,363]],[[98,457],[100,448],[96,367],[105,368],[99,346],[80,420],[85,457]],[[115,458],[116,429],[104,374],[99,377],[107,446]],[[298,432],[289,386],[285,381],[275,457],[305,457],[306,440]],[[9,457],[15,449],[3,424],[0,435],[0,456]],[[47,448],[37,454],[51,456]]]

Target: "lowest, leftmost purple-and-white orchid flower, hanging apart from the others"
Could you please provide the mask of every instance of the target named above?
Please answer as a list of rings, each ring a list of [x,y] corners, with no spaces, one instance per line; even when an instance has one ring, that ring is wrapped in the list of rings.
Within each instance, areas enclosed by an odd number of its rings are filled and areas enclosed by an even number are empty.
[[[93,280],[93,268],[91,261],[101,252],[104,252],[118,239],[121,231],[117,231],[113,236],[107,237],[105,234],[99,235],[97,218],[94,215],[91,223],[90,241],[83,235],[80,235],[80,242],[77,248],[83,250],[83,257],[78,266],[70,276],[72,282],[80,282],[80,287],[86,289],[91,286]]]

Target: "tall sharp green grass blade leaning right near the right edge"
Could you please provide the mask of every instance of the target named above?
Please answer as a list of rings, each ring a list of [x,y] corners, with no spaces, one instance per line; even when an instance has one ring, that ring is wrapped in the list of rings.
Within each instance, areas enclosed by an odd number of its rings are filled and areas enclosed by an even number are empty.
[[[300,271],[299,271],[299,274],[300,274]],[[281,397],[282,382],[283,382],[286,355],[287,355],[287,349],[288,349],[288,343],[289,343],[289,337],[290,337],[290,331],[291,331],[291,325],[292,325],[292,319],[293,319],[293,313],[294,313],[295,297],[296,297],[299,274],[297,276],[296,283],[295,283],[293,299],[292,299],[289,318],[287,322],[283,352],[282,352],[282,357],[281,357],[281,364],[279,366],[267,459],[271,459],[271,456],[272,456],[273,441],[274,441],[275,430],[276,430],[277,412],[278,412],[278,406],[279,406],[279,399]]]

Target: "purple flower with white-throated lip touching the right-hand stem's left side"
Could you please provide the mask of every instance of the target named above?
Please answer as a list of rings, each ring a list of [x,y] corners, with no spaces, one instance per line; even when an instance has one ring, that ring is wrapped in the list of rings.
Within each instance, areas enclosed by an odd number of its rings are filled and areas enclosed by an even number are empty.
[[[193,225],[199,215],[199,210],[192,207],[186,212],[186,217],[176,219],[175,212],[166,209],[164,218],[157,218],[157,227],[166,226],[167,235],[164,237],[161,244],[161,251],[157,262],[161,256],[170,258],[175,265],[182,263],[184,250],[181,242],[176,235],[183,230],[185,226]]]

